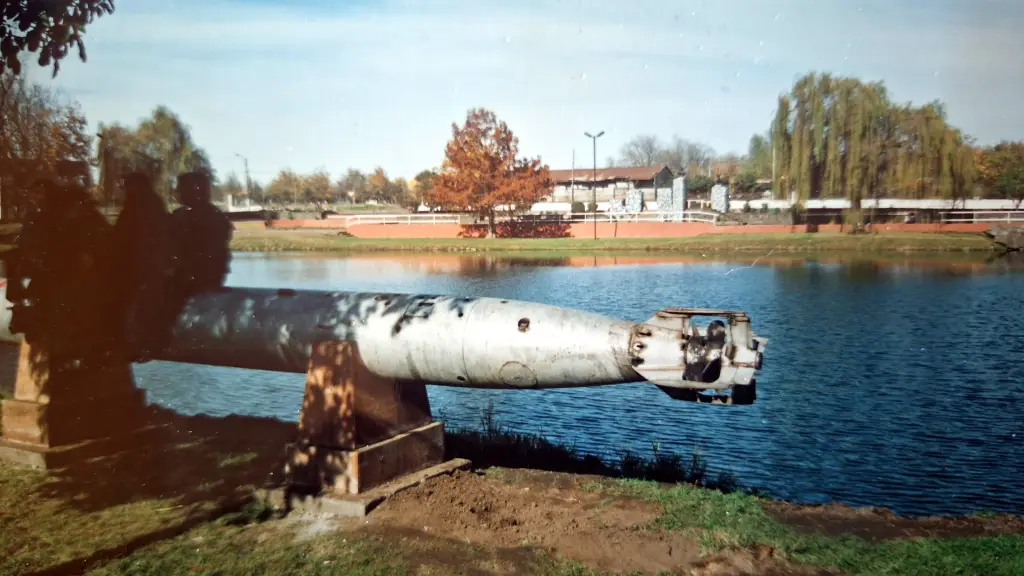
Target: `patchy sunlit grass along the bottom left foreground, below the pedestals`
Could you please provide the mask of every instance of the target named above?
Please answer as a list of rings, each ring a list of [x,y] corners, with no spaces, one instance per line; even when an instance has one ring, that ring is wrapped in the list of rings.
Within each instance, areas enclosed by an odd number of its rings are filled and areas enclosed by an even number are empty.
[[[42,496],[38,486],[45,483],[41,472],[0,463],[0,575],[446,575],[474,565],[493,566],[502,553],[398,535],[310,534],[302,523],[275,518],[258,502],[190,530],[166,531],[184,516],[170,500],[145,499],[85,513]],[[162,529],[166,534],[146,545],[129,543]],[[594,574],[543,553],[527,561],[529,574]]]

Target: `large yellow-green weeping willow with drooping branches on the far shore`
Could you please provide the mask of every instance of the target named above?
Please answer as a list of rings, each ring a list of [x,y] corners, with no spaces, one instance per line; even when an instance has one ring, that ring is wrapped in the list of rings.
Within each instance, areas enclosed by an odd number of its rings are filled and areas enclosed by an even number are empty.
[[[963,198],[971,141],[945,108],[897,106],[882,82],[808,74],[779,96],[771,125],[776,197]]]

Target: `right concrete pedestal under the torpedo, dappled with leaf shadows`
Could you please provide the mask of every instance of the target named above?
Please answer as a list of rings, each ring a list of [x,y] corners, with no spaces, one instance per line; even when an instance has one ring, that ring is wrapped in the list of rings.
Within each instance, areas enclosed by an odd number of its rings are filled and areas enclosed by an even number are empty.
[[[380,378],[352,342],[319,342],[310,356],[286,476],[298,491],[328,497],[366,494],[441,463],[444,430],[426,386]]]

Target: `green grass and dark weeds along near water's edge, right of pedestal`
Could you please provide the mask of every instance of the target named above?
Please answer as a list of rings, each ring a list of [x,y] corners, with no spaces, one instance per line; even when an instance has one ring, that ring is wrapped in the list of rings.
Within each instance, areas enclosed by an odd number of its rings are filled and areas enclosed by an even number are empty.
[[[765,508],[771,502],[768,497],[739,489],[731,474],[709,479],[699,452],[687,463],[678,454],[660,453],[655,444],[649,459],[627,453],[606,462],[540,435],[512,431],[495,420],[493,406],[483,411],[478,429],[453,429],[446,442],[453,455],[469,458],[481,467],[502,465],[615,478],[612,484],[592,483],[589,487],[664,505],[664,513],[650,528],[688,533],[699,539],[707,552],[766,544],[788,560],[846,574],[1024,574],[1022,535],[870,543],[855,536],[798,532],[769,515]]]

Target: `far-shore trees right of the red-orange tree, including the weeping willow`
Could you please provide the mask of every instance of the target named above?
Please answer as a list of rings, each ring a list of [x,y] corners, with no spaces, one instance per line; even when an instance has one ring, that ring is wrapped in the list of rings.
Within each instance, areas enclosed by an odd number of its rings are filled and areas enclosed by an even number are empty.
[[[667,164],[703,192],[719,178],[775,198],[1007,198],[1024,201],[1024,142],[979,147],[945,106],[894,102],[884,82],[810,73],[778,97],[771,125],[746,154],[716,155],[674,136],[639,135],[608,166]],[[709,174],[710,166],[710,174]],[[768,184],[761,182],[770,182]]]

